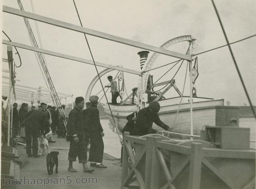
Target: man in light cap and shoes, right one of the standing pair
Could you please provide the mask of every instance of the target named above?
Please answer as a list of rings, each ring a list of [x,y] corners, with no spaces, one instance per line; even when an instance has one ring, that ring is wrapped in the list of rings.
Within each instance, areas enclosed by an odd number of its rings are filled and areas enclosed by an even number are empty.
[[[104,143],[102,137],[104,132],[100,124],[100,114],[97,109],[98,96],[90,96],[89,100],[91,106],[87,109],[86,112],[86,127],[90,134],[90,154],[88,161],[91,161],[91,167],[107,168],[102,164],[103,152],[104,152]]]

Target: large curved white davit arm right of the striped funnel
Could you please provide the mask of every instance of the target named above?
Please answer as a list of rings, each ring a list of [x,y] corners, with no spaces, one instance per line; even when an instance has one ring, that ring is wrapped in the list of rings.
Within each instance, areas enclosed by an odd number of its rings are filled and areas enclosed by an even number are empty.
[[[191,35],[182,35],[180,37],[175,37],[173,39],[170,39],[169,41],[164,43],[160,48],[167,49],[168,47],[170,47],[171,45],[174,45],[176,43],[180,43],[180,42],[183,42],[183,41],[191,41],[191,40],[194,40],[194,38]],[[142,72],[152,69],[152,67],[153,67],[156,59],[159,57],[159,55],[160,55],[160,53],[154,53],[150,57],[150,59],[148,60],[148,62],[144,66],[144,68],[142,69]],[[149,75],[148,72],[144,73],[144,77],[143,77],[143,79],[144,79],[144,81],[143,81],[144,82],[144,88],[142,88],[142,89],[146,89],[146,87],[147,87],[148,75]],[[139,83],[138,87],[140,87],[140,83]],[[138,90],[138,91],[141,91],[141,90]]]

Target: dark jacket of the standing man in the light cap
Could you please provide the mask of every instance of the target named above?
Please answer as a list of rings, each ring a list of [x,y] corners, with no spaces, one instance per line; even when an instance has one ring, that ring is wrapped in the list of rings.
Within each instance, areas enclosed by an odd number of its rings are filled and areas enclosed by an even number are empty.
[[[100,133],[103,128],[100,124],[100,113],[97,106],[92,104],[84,112],[86,129],[91,133]]]

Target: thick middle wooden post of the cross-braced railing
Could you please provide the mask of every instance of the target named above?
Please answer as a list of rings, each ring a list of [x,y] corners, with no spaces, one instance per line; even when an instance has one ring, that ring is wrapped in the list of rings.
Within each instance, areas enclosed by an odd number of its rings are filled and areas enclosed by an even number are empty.
[[[145,168],[145,188],[156,189],[159,187],[160,162],[156,154],[156,142],[162,140],[161,137],[148,136],[146,146],[146,168]]]

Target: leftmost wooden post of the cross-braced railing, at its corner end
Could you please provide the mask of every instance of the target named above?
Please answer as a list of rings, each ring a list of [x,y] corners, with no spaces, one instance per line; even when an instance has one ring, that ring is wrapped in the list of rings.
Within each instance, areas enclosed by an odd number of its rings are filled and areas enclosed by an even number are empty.
[[[130,133],[129,132],[124,132],[124,136],[123,136],[123,143],[125,142],[126,140],[126,136],[130,136]],[[124,185],[124,180],[126,178],[126,176],[128,175],[128,153],[127,153],[127,150],[126,150],[126,146],[123,144],[122,146],[122,176],[121,176],[121,188],[123,187]]]

